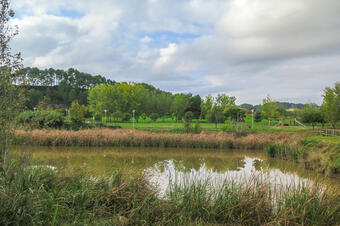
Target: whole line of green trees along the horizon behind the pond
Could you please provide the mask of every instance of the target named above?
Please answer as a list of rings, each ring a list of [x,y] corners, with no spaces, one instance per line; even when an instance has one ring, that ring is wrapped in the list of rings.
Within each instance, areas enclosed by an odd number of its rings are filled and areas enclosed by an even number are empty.
[[[27,109],[68,109],[72,103],[84,105],[84,115],[100,120],[107,116],[113,120],[129,121],[133,114],[139,118],[171,117],[182,120],[186,112],[193,119],[205,119],[216,125],[226,120],[242,122],[254,113],[255,121],[263,118],[272,125],[273,120],[284,124],[285,119],[298,118],[303,123],[329,122],[333,127],[340,120],[339,90],[327,87],[321,107],[315,103],[280,103],[267,96],[261,105],[236,105],[236,97],[226,94],[201,98],[190,93],[173,94],[146,83],[115,82],[101,75],[91,75],[76,69],[68,70],[23,68],[18,71],[16,84],[25,81]],[[86,107],[85,107],[86,106]],[[190,114],[189,114],[190,115]]]

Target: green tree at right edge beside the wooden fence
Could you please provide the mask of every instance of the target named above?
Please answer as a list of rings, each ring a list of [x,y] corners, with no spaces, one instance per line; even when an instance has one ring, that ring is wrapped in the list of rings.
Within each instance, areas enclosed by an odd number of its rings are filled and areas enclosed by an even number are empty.
[[[334,88],[326,87],[321,109],[326,120],[335,128],[340,121],[340,82],[336,82]]]

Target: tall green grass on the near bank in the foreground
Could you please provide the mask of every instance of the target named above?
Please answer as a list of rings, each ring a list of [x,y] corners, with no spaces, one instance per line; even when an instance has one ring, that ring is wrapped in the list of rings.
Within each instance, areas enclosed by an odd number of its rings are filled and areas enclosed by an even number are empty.
[[[1,225],[336,225],[340,194],[301,185],[277,197],[266,182],[174,184],[159,198],[145,176],[108,178],[11,164],[0,172]],[[273,200],[276,200],[275,202]]]

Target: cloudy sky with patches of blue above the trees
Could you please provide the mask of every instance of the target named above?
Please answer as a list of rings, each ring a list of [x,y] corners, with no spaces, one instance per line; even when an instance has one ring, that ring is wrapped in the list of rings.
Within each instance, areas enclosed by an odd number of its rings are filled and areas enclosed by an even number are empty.
[[[171,92],[321,103],[340,81],[339,0],[12,0],[25,66]]]

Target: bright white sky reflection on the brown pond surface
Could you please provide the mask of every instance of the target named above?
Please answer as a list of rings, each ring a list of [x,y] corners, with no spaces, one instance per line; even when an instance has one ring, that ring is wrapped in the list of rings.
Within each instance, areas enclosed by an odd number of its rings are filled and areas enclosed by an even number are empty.
[[[149,180],[158,188],[161,195],[166,194],[171,185],[191,186],[198,182],[209,184],[219,189],[225,183],[247,184],[252,181],[268,184],[273,191],[298,187],[302,184],[312,185],[313,181],[299,177],[295,173],[283,173],[278,169],[262,168],[263,161],[259,158],[245,156],[236,162],[237,167],[229,168],[225,172],[216,172],[205,163],[197,168],[186,168],[184,161],[166,160],[155,164],[146,170]],[[183,170],[184,169],[184,170]]]

